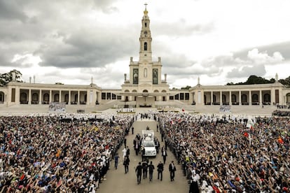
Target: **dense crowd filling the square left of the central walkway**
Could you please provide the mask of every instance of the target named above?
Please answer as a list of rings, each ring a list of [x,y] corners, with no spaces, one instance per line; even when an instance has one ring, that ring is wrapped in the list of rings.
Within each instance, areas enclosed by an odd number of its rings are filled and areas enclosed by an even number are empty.
[[[0,192],[96,192],[133,117],[80,116],[1,117]]]

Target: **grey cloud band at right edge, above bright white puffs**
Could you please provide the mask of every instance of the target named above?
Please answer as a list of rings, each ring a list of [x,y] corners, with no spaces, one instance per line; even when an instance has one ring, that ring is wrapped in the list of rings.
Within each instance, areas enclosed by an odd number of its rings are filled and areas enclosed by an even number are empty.
[[[260,52],[267,52],[268,55],[273,55],[275,52],[280,52],[285,60],[290,59],[290,41],[283,43],[273,43],[270,45],[261,45],[254,48],[258,48]],[[244,59],[247,57],[249,50],[253,48],[247,48],[245,50],[240,50],[239,52],[234,52],[233,57],[240,57]]]

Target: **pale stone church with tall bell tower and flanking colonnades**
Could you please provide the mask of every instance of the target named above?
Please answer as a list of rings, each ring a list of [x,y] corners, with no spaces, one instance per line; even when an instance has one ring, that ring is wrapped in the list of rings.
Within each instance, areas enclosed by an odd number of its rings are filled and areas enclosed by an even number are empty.
[[[162,74],[161,57],[152,60],[152,36],[148,11],[144,10],[139,36],[139,61],[130,57],[130,72],[124,74],[120,90],[98,87],[91,80],[90,85],[57,85],[18,83],[11,81],[0,87],[0,107],[14,105],[67,105],[96,106],[112,101],[134,102],[136,107],[155,107],[156,101],[181,101],[196,106],[213,105],[289,105],[290,88],[279,83],[263,85],[201,85],[189,90],[170,90],[167,74]]]

